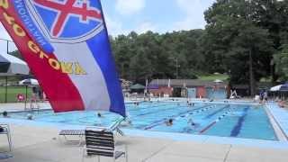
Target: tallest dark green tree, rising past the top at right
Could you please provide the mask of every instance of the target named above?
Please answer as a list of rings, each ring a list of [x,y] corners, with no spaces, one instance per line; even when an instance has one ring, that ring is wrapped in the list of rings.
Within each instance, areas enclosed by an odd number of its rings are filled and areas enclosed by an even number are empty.
[[[274,75],[270,63],[281,46],[281,34],[287,32],[284,31],[287,29],[286,3],[275,0],[215,2],[205,12],[206,63],[218,71],[230,71],[232,83],[254,86],[255,80],[271,72]],[[275,80],[275,75],[273,78]]]

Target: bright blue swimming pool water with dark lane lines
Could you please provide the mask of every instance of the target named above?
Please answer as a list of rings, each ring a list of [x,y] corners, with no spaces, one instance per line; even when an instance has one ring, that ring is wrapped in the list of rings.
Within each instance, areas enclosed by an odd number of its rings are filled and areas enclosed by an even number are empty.
[[[181,132],[222,137],[277,140],[275,131],[262,107],[249,104],[184,102],[126,103],[131,125],[121,127],[139,130]],[[30,112],[13,112],[12,118],[26,119]],[[34,121],[60,122],[75,125],[109,126],[119,116],[111,112],[33,112]],[[173,125],[166,121],[173,119]],[[194,123],[194,124],[192,124]]]

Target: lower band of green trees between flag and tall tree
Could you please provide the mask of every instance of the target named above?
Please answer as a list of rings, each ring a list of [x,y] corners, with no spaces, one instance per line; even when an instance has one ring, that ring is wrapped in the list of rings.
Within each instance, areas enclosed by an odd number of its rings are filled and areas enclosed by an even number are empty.
[[[200,39],[202,30],[158,34],[148,31],[112,38],[112,50],[121,77],[136,82],[151,78],[195,78],[204,61]]]

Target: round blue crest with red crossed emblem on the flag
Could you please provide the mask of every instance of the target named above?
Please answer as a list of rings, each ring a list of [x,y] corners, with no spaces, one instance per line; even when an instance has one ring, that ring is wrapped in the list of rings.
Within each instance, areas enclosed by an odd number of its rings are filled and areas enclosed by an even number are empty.
[[[33,21],[52,42],[82,42],[103,30],[101,6],[93,1],[28,0],[26,3]]]

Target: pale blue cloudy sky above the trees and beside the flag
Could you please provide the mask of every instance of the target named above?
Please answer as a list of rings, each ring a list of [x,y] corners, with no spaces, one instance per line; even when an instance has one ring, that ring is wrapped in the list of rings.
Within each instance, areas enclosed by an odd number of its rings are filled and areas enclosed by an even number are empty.
[[[203,12],[215,0],[102,0],[108,32],[112,36],[130,31],[144,33],[203,29]],[[11,40],[0,24],[0,39]],[[5,43],[0,40],[0,50]],[[10,47],[14,49],[14,47]]]

